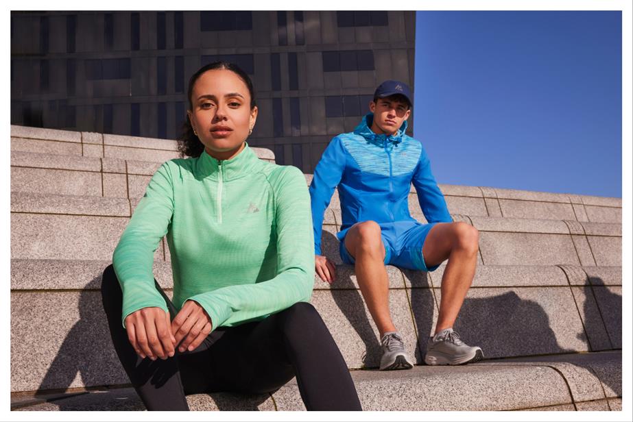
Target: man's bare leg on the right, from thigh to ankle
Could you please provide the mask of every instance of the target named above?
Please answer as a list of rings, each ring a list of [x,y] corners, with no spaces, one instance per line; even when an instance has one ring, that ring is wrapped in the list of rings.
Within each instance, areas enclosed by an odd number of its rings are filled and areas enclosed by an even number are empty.
[[[438,223],[427,235],[422,247],[427,266],[449,260],[442,276],[442,299],[435,334],[453,327],[475,277],[478,249],[479,232],[466,223]]]

